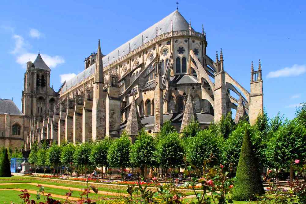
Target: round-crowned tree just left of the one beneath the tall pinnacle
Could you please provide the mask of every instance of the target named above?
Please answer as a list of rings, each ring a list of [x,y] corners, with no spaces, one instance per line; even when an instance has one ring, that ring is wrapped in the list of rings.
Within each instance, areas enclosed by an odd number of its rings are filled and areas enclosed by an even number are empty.
[[[76,150],[73,154],[73,164],[75,167],[84,167],[85,176],[87,176],[87,170],[91,167],[92,163],[90,162],[90,153],[91,153],[90,142],[84,142],[81,145],[76,147]]]

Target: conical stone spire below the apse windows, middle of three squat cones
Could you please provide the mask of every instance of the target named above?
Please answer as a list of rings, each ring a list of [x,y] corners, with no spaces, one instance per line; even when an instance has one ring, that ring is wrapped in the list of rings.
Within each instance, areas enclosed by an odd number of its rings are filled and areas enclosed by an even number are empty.
[[[192,120],[196,121],[198,120],[198,118],[196,116],[196,109],[194,108],[194,104],[191,99],[191,95],[189,91],[188,96],[187,96],[187,101],[185,104],[185,110],[184,110],[180,132],[183,132],[184,127],[187,126]]]

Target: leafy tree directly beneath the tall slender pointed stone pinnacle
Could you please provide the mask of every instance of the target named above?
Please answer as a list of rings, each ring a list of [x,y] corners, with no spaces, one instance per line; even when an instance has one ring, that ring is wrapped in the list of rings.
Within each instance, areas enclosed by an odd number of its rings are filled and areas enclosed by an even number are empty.
[[[103,178],[103,166],[108,166],[107,163],[107,151],[110,148],[112,140],[104,139],[91,148],[90,153],[90,162],[94,164],[94,166],[99,166],[102,168],[102,178]]]

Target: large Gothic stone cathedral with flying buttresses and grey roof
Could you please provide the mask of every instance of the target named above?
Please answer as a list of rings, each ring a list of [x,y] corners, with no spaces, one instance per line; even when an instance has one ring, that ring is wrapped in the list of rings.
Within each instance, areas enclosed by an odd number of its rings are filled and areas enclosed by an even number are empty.
[[[258,70],[252,62],[248,92],[224,69],[222,50],[213,60],[206,49],[203,25],[196,32],[175,10],[107,55],[98,40],[84,70],[58,91],[38,54],[24,74],[24,141],[76,144],[118,138],[125,130],[133,142],[142,128],[158,133],[166,120],[178,132],[191,120],[207,128],[232,108],[236,123],[242,117],[254,123],[263,112],[260,61]]]

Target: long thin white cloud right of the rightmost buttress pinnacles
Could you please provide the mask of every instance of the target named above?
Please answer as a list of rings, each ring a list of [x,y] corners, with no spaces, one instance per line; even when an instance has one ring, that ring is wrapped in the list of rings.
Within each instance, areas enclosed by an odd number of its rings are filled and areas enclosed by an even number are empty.
[[[292,67],[285,67],[280,70],[269,72],[267,78],[298,76],[300,74],[304,74],[305,72],[305,65],[294,64]]]

